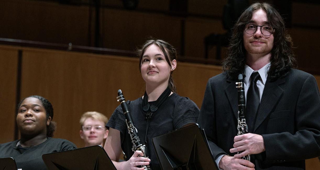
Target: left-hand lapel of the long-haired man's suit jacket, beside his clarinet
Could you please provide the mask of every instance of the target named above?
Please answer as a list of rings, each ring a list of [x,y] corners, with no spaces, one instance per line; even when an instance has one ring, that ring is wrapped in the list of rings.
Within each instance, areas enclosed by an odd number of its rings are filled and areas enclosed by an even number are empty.
[[[225,92],[227,94],[232,111],[235,117],[238,118],[238,94],[236,88],[236,81],[233,81],[231,79],[227,79],[227,81],[229,82],[229,85],[225,89]]]

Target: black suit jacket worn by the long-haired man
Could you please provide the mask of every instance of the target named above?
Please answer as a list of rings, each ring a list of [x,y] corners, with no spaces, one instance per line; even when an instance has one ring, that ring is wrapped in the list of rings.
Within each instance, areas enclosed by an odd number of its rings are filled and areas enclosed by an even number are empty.
[[[235,155],[229,150],[237,134],[237,88],[226,75],[209,79],[198,119],[214,158]],[[319,156],[320,95],[314,76],[291,69],[276,81],[267,78],[253,133],[263,136],[266,148],[253,155],[257,170],[305,169],[305,159]]]

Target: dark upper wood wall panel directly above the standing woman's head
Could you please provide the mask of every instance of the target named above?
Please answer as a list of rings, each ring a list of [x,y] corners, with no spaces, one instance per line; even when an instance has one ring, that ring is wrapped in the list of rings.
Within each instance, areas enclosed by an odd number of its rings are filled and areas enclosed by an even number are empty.
[[[102,41],[106,48],[136,50],[137,44],[153,36],[170,42],[180,50],[179,17],[112,9],[104,9],[103,14]]]

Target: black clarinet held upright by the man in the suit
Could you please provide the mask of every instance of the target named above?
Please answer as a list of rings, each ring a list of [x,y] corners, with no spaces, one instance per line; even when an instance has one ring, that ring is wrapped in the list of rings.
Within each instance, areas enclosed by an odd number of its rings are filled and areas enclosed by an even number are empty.
[[[244,94],[244,78],[242,74],[238,75],[238,82],[236,82],[236,88],[238,89],[238,125],[237,135],[248,133],[248,126],[245,120],[245,94]],[[238,154],[241,153],[238,152]],[[242,157],[242,159],[250,161],[250,155]]]

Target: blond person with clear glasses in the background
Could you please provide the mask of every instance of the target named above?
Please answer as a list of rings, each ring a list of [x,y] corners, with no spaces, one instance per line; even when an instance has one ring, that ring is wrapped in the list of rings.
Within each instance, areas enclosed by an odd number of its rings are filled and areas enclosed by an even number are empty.
[[[99,112],[85,112],[80,119],[80,137],[84,147],[100,145],[103,147],[109,130],[105,127],[108,118]]]

